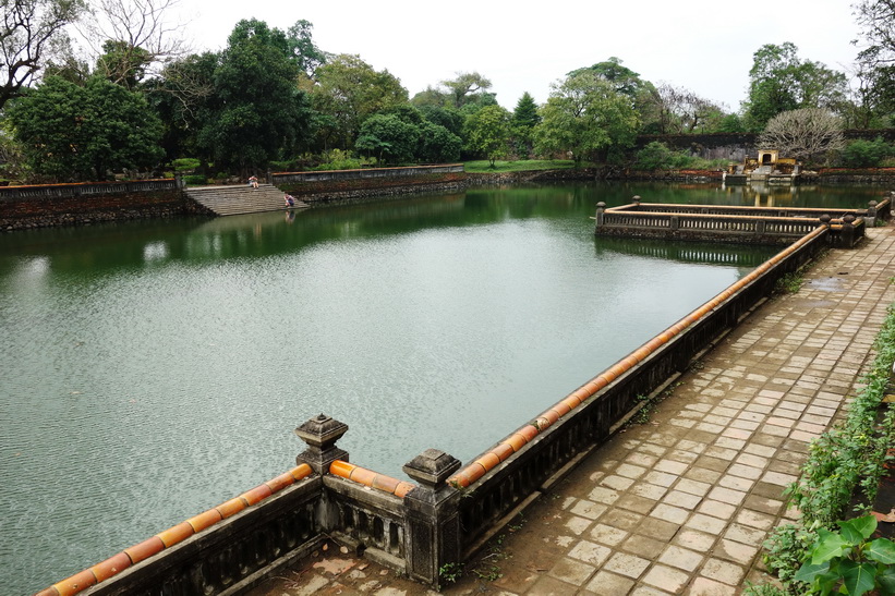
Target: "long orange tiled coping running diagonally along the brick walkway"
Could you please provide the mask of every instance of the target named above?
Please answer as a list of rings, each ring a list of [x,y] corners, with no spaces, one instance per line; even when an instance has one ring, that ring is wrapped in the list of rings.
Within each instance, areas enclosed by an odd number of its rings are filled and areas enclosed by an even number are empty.
[[[724,303],[727,299],[736,294],[739,290],[754,281],[765,271],[784,260],[790,254],[796,252],[803,244],[808,243],[815,235],[820,234],[823,228],[818,228],[812,232],[806,234],[798,241],[794,242],[762,265],[752,270],[748,276],[743,277],[726,290],[717,294],[715,297],[668,327],[666,330],[631,352],[628,356],[618,361],[616,364],[604,370],[582,387],[576,389],[566,398],[554,404],[549,410],[536,416],[534,421],[522,426],[515,433],[504,438],[496,447],[486,451],[479,459],[468,464],[465,467],[459,470],[450,478],[448,483],[465,488],[475,483],[479,478],[484,476],[487,472],[496,467],[500,462],[507,460],[510,455],[522,449],[537,435],[556,424],[559,418],[567,415],[569,412],[581,405],[586,399],[596,394],[597,391],[612,384],[615,379],[637,366],[640,362],[646,358],[650,354],[658,350],[661,346],[668,343],[675,336],[690,327],[692,324],[701,319],[704,315],[711,313],[714,308]]]

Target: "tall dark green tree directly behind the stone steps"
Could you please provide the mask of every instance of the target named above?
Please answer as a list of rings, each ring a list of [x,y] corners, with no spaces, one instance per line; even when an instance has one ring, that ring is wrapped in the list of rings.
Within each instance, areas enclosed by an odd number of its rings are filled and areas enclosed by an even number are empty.
[[[218,168],[245,173],[298,150],[311,120],[298,76],[283,32],[254,19],[237,24],[198,138]]]

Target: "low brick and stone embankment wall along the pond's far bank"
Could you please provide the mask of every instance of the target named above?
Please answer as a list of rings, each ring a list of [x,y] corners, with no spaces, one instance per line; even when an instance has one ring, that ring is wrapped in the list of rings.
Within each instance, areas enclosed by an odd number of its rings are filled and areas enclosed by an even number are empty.
[[[639,171],[620,167],[470,173],[462,163],[268,174],[268,182],[312,207],[554,181],[709,182],[721,179],[719,171],[711,170]],[[827,169],[802,174],[801,181],[892,187],[895,168]],[[190,216],[214,217],[214,214],[188,197],[179,179],[0,187],[0,232]]]

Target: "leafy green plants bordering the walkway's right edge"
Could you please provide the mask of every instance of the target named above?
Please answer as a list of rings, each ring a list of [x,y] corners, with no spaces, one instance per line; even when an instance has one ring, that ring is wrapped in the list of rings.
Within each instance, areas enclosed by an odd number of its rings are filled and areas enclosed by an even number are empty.
[[[868,540],[876,520],[868,515],[842,521],[870,512],[885,463],[893,459],[895,409],[883,398],[895,362],[895,305],[874,350],[846,419],[811,443],[801,476],[786,489],[801,513],[800,523],[777,527],[764,544],[767,569],[787,593],[895,594],[895,548],[890,540]],[[750,589],[760,593],[755,586]]]

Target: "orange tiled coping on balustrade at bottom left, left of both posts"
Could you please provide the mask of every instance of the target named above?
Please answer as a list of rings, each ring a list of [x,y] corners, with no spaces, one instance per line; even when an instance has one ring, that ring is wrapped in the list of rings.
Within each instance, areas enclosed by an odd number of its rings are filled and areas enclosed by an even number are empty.
[[[290,470],[285,474],[280,474],[271,481],[246,490],[239,497],[230,499],[208,511],[204,511],[194,518],[190,518],[185,522],[179,523],[173,527],[169,527],[165,532],[159,532],[152,538],[143,540],[123,551],[114,555],[97,563],[89,569],[85,569],[80,573],[75,573],[71,577],[66,577],[61,582],[57,582],[50,587],[38,592],[35,596],[70,596],[83,592],[104,580],[108,580],[112,575],[120,573],[132,564],[148,559],[166,548],[174,546],[176,544],[185,540],[193,534],[197,534],[203,530],[210,527],[219,521],[239,513],[246,507],[253,506],[279,492],[289,485],[306,478],[313,473],[311,466],[306,463]]]

